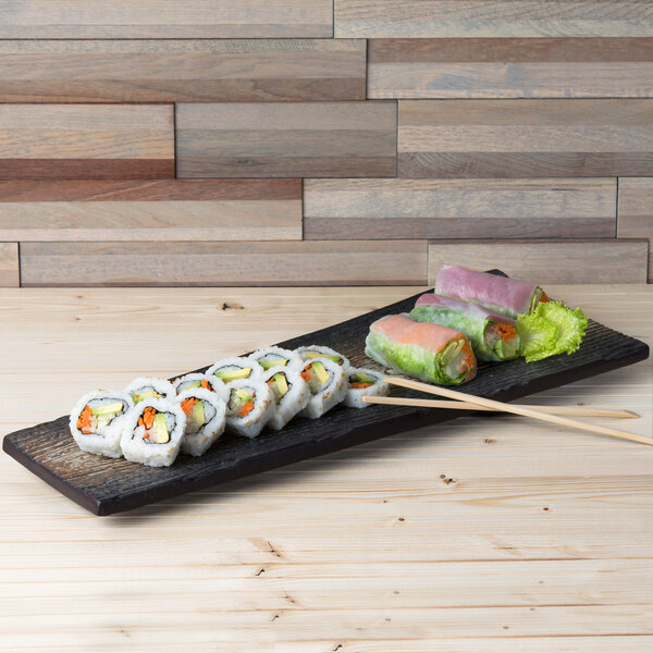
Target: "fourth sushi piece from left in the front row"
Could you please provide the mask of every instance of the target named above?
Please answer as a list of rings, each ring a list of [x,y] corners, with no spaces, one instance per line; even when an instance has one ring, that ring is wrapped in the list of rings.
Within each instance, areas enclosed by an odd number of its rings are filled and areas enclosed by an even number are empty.
[[[256,438],[274,415],[272,391],[260,379],[237,379],[227,387],[227,430],[244,438]]]

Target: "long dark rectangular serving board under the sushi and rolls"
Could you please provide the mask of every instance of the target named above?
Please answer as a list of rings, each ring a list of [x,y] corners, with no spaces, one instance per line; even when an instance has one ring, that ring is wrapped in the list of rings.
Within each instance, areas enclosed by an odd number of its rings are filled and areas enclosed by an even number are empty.
[[[354,366],[378,368],[364,352],[370,324],[383,316],[409,311],[417,297],[278,344],[286,348],[326,345],[347,356]],[[481,364],[476,379],[461,390],[507,402],[631,365],[648,356],[646,344],[590,320],[580,349],[571,356],[554,356],[529,365],[522,359]],[[432,398],[399,387],[393,387],[392,394]],[[4,438],[2,448],[87,510],[111,515],[401,431],[444,422],[460,412],[404,406],[375,405],[365,409],[336,406],[320,419],[297,418],[282,431],[263,430],[255,440],[225,434],[204,456],[180,455],[169,468],[146,467],[79,451],[69,431],[67,416],[11,433]],[[483,419],[482,414],[478,415]]]

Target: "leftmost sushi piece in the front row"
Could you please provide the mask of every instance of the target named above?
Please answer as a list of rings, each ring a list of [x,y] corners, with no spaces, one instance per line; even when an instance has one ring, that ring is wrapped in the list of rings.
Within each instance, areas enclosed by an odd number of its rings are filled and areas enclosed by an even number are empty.
[[[89,454],[120,458],[120,439],[133,408],[132,397],[119,390],[85,394],[71,412],[70,429],[77,446]]]

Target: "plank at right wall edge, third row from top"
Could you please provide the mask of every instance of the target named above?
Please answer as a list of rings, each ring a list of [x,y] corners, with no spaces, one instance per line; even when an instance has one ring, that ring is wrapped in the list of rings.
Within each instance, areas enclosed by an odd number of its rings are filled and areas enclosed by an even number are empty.
[[[653,100],[399,101],[398,174],[653,174]]]

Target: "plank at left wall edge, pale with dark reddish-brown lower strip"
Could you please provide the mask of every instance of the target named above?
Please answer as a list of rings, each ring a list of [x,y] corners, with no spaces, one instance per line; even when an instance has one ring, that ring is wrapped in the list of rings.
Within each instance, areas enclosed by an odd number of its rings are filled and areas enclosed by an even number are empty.
[[[0,180],[174,176],[171,106],[0,104]]]

